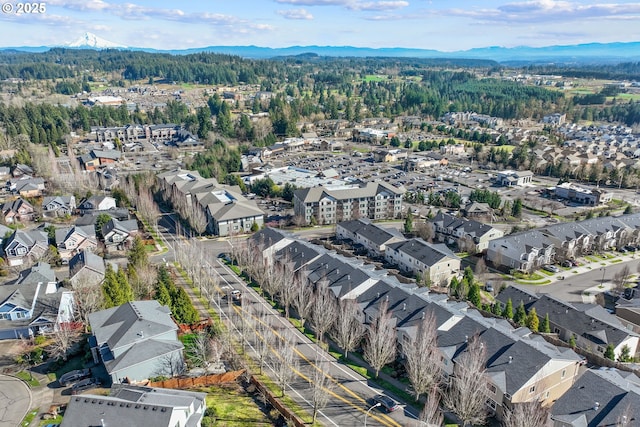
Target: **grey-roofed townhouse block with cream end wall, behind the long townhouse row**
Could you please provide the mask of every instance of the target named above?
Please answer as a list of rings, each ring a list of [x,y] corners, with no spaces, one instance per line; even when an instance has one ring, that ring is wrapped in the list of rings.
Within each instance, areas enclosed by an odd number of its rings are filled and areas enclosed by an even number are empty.
[[[460,272],[460,258],[446,245],[411,239],[387,245],[385,260],[401,271],[420,275],[437,285],[448,284]]]

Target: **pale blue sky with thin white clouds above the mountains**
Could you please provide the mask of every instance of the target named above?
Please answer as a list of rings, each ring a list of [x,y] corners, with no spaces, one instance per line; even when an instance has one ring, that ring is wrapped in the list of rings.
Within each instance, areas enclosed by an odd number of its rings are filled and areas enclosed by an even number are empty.
[[[15,5],[13,0],[0,0]],[[443,51],[640,41],[640,1],[48,0],[41,15],[0,13],[0,45],[412,47]]]

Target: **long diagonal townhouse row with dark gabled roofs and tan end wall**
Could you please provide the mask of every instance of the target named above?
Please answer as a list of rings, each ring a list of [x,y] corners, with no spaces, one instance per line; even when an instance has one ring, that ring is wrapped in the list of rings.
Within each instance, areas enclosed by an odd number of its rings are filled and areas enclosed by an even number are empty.
[[[381,307],[388,307],[401,354],[414,342],[422,319],[433,313],[442,355],[434,363],[442,365],[445,376],[453,373],[469,339],[479,336],[487,351],[487,410],[498,417],[515,403],[540,400],[551,405],[580,373],[582,359],[571,349],[553,346],[526,328],[514,329],[507,321],[484,318],[466,303],[449,302],[445,295],[401,284],[386,270],[271,228],[256,233],[249,244],[265,265],[290,265],[303,278],[302,286],[323,281],[337,299],[357,301],[364,324],[372,322]]]

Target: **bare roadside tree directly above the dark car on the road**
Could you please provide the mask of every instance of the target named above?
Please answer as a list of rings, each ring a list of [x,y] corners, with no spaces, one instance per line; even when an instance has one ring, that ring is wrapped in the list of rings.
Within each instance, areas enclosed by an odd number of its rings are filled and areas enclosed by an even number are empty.
[[[363,356],[375,370],[376,378],[380,369],[396,358],[395,323],[392,313],[388,310],[388,303],[384,301],[365,334]]]

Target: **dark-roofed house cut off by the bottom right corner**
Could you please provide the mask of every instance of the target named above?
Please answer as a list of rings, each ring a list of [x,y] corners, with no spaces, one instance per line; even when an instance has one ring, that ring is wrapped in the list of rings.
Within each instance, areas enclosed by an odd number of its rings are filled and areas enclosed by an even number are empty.
[[[640,380],[613,368],[588,369],[551,408],[553,427],[640,424]]]

